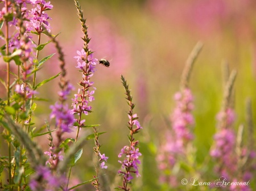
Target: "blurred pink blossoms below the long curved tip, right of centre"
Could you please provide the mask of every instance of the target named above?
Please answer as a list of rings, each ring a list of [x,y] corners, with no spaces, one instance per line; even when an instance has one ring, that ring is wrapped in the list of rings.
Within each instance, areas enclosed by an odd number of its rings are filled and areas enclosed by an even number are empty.
[[[174,111],[171,114],[172,131],[167,131],[166,139],[160,146],[156,160],[158,168],[161,172],[160,181],[168,182],[175,187],[177,181],[175,176],[164,172],[169,171],[174,167],[179,155],[183,155],[186,145],[193,139],[191,126],[194,124],[192,115],[193,110],[193,95],[189,88],[185,88],[177,92],[174,96],[176,101]]]

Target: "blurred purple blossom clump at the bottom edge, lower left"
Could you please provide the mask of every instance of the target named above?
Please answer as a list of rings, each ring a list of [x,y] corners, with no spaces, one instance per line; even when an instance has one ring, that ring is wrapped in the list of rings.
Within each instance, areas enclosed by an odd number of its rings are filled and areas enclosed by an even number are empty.
[[[51,170],[48,167],[42,165],[36,168],[36,173],[33,175],[34,179],[30,180],[30,188],[33,191],[47,190],[54,191],[59,189],[61,185],[65,184],[65,177],[52,175]]]

